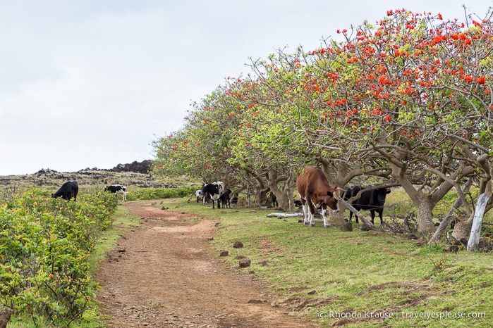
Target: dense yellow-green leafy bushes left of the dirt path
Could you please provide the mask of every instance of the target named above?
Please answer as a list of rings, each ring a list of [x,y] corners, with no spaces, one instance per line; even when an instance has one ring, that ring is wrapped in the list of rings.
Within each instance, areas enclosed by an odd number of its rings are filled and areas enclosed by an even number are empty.
[[[1,201],[0,304],[36,324],[77,320],[97,289],[87,260],[115,209],[113,195],[100,191],[74,202],[30,189]]]

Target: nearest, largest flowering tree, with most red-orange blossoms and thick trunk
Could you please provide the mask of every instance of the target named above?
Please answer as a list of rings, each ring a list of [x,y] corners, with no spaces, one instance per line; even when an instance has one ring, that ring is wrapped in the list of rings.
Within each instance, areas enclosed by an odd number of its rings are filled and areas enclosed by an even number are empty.
[[[490,179],[491,23],[465,28],[442,15],[387,14],[312,53],[311,99],[322,111],[313,142],[334,147],[337,139],[338,151],[388,163],[417,209],[419,231],[432,232],[432,209],[451,188],[461,194],[465,177]]]

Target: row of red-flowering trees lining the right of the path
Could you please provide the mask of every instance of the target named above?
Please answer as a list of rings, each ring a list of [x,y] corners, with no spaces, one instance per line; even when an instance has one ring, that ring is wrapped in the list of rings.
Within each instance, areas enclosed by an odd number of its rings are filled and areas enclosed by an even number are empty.
[[[279,49],[226,78],[181,130],[154,142],[155,170],[268,187],[280,206],[305,164],[339,187],[392,179],[420,232],[434,230],[432,209],[447,192],[464,198],[464,179],[491,193],[491,13],[460,22],[399,9],[337,32],[343,42]]]

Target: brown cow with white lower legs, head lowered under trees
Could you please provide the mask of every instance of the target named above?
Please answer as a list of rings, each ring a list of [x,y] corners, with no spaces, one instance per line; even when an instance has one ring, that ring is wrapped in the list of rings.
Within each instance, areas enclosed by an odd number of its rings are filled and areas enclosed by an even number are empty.
[[[300,194],[301,206],[303,207],[303,222],[305,225],[310,224],[310,227],[315,227],[315,206],[322,206],[322,217],[324,217],[324,227],[329,227],[327,216],[327,206],[339,212],[339,197],[337,192],[343,190],[341,188],[330,187],[327,177],[320,168],[314,166],[305,166],[303,168],[303,175],[296,176],[296,188],[298,194]]]

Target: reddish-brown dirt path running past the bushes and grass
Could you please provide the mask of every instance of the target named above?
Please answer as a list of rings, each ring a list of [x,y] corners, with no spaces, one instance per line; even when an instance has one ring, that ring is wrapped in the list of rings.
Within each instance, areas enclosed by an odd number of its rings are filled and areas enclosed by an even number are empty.
[[[276,296],[262,282],[205,251],[213,220],[187,221],[150,201],[125,207],[142,225],[122,236],[97,273],[108,327],[315,327],[272,306]]]

